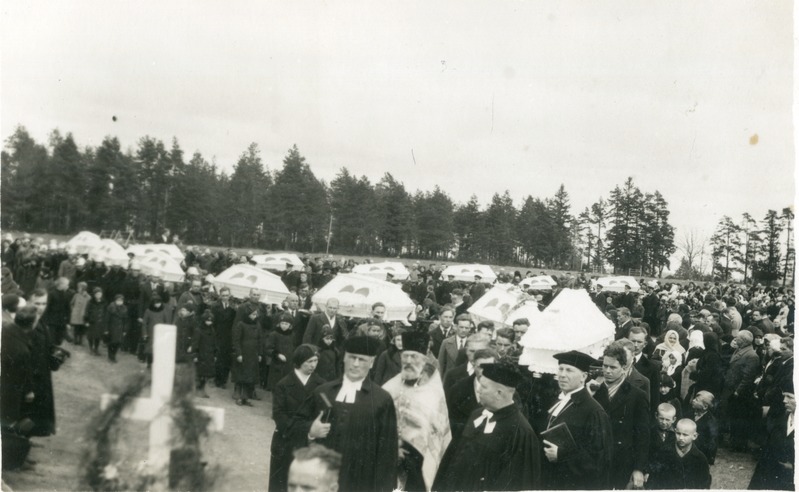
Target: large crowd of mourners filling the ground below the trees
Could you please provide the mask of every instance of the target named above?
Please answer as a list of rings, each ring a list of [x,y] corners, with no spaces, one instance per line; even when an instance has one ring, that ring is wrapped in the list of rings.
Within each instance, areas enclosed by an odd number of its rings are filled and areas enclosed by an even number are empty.
[[[209,383],[232,383],[241,406],[272,393],[269,490],[331,476],[341,490],[709,488],[722,447],[757,455],[750,488],[794,487],[791,289],[642,279],[638,292],[606,292],[584,274],[555,276],[526,295],[544,308],[586,289],[615,341],[599,359],[557,354],[557,374],[541,374],[520,365],[528,320],[468,312],[491,288],[480,277],[409,265],[398,283],[416,309],[388,322],[379,302],[358,318],[336,299],[312,303],[351,261],[287,265],[279,305],[214,288],[209,273],[251,256],[186,248],[174,284],[136,258],[106,267],[30,237],[4,241],[4,467],[24,466],[28,439],[56,431],[51,371],[69,357],[64,342],[149,366],[166,323],[197,397]],[[501,270],[497,283],[522,290],[532,275]]]

